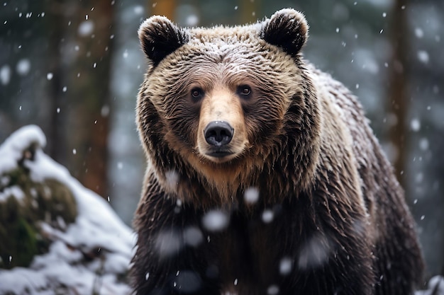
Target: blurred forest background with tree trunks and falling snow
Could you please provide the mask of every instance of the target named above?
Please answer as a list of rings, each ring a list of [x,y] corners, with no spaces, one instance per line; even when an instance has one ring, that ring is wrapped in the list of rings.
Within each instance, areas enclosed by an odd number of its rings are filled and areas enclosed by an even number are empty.
[[[442,0],[4,0],[0,141],[39,125],[46,152],[131,224],[145,170],[134,123],[146,67],[140,23],[161,14],[184,26],[236,25],[286,7],[309,22],[306,59],[360,97],[406,190],[428,274],[442,274]]]

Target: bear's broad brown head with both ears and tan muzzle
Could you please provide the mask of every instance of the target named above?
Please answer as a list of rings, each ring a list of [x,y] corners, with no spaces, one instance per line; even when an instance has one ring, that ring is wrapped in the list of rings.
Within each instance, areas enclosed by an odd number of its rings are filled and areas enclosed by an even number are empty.
[[[163,16],[140,25],[149,66],[137,122],[157,178],[228,193],[263,170],[293,166],[289,157],[301,162],[296,178],[313,170],[318,109],[300,54],[307,34],[292,9],[231,28],[180,28]]]

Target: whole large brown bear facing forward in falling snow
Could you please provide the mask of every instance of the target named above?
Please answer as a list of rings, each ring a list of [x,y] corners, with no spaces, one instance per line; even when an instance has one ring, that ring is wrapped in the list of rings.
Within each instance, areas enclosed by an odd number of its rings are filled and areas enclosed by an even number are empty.
[[[303,14],[138,30],[135,294],[407,295],[414,221],[362,108],[301,54]]]

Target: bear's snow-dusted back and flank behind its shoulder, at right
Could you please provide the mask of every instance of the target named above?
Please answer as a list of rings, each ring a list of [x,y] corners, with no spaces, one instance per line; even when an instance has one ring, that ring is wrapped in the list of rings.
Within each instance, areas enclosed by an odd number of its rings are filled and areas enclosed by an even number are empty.
[[[421,284],[423,261],[414,219],[404,199],[404,190],[394,175],[365,117],[362,105],[343,83],[336,81],[307,63],[316,88],[323,89],[333,102],[338,118],[350,132],[352,149],[360,176],[360,187],[369,214],[370,232],[374,243],[374,270],[378,284],[376,294],[410,294],[411,284]],[[409,259],[406,259],[408,257]],[[392,277],[398,277],[395,282]],[[406,278],[412,278],[409,282]],[[397,293],[396,293],[397,294]]]

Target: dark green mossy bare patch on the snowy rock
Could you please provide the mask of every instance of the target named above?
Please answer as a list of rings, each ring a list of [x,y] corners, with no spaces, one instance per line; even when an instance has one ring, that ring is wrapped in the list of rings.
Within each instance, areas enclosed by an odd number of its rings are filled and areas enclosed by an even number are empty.
[[[50,238],[41,224],[65,230],[77,204],[65,185],[53,179],[36,183],[23,166],[0,177],[6,180],[0,187],[0,268],[27,267],[35,255],[48,252]]]

